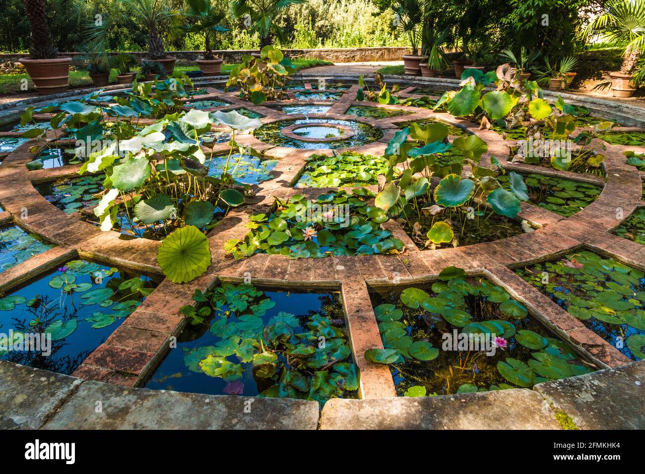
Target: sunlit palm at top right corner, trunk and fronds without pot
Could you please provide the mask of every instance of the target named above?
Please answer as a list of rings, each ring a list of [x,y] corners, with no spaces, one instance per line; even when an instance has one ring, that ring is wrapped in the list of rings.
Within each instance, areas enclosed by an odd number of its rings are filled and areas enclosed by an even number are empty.
[[[626,44],[620,72],[631,74],[645,46],[645,0],[610,0],[605,8],[587,26],[582,37],[602,35],[604,43]]]

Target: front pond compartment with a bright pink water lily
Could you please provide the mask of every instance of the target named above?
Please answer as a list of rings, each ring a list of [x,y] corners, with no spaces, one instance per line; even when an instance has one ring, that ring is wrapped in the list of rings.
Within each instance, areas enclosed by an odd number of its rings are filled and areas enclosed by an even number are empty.
[[[464,278],[370,293],[397,395],[530,388],[593,370],[503,288]]]

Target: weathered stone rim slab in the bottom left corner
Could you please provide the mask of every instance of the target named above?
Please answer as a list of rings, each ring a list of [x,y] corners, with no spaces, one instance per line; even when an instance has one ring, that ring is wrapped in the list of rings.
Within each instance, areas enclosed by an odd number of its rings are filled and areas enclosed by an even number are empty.
[[[0,360],[0,429],[37,430],[80,379]]]

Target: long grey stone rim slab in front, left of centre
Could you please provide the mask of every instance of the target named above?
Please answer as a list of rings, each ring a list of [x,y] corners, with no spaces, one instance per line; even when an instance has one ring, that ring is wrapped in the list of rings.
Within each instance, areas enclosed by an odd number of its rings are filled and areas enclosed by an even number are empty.
[[[103,410],[97,413],[96,400]],[[250,413],[245,413],[245,400]],[[249,405],[247,402],[246,405]],[[124,389],[83,382],[46,430],[315,430],[318,402]]]

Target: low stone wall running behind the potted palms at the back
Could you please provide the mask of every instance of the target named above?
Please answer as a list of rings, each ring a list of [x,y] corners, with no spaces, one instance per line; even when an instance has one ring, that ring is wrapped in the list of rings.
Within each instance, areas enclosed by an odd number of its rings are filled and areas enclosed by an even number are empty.
[[[381,48],[325,48],[325,49],[308,49],[308,50],[283,50],[288,57],[310,57],[315,59],[324,59],[334,63],[355,63],[359,61],[401,61],[401,56],[407,54],[410,48],[399,47],[381,47]],[[255,50],[219,50],[215,54],[224,58],[226,63],[239,63],[243,54],[251,54]],[[116,54],[116,53],[108,53]],[[130,54],[135,55],[137,59],[143,59],[148,52],[133,51]],[[168,55],[177,57],[178,64],[194,64],[195,59],[202,56],[202,51],[169,51]],[[72,64],[83,64],[83,54],[81,53],[61,53],[63,56],[72,58]],[[21,57],[27,54],[0,54],[0,63],[11,61],[17,62]]]

